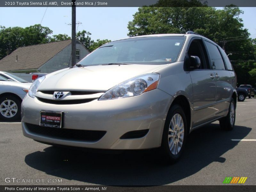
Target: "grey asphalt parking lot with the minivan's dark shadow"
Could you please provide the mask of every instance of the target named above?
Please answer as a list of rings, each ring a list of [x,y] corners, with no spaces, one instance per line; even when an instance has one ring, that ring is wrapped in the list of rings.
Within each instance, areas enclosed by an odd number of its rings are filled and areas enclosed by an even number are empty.
[[[102,154],[52,147],[24,137],[20,122],[0,122],[0,185],[223,185],[226,177],[256,185],[255,119],[255,98],[237,102],[233,131],[221,130],[219,122],[195,130],[173,165],[162,164],[154,150]]]

